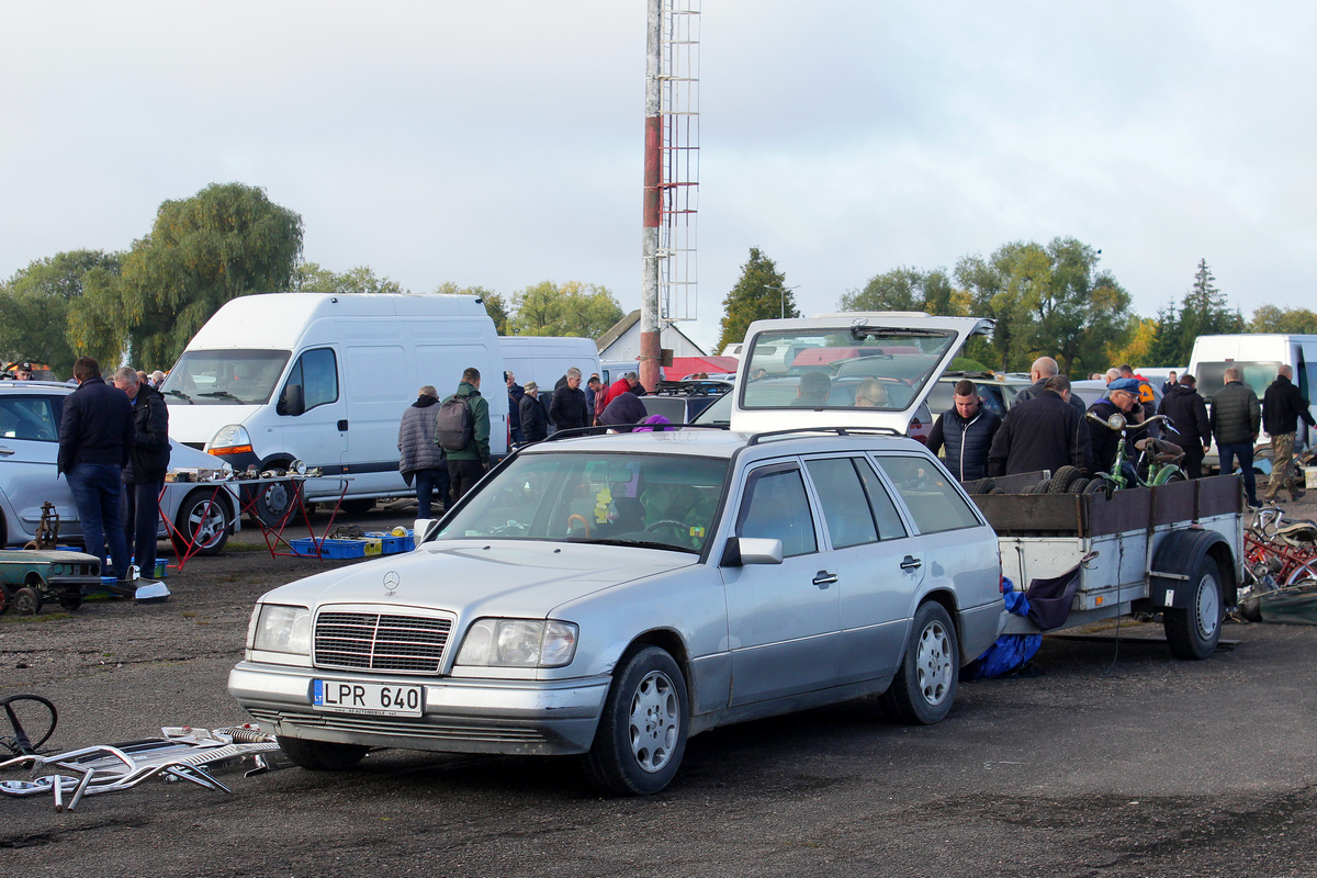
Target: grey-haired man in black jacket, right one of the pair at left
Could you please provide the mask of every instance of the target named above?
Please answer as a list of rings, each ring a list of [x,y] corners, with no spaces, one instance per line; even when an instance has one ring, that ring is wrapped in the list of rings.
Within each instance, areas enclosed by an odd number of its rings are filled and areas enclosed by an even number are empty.
[[[153,577],[161,492],[169,471],[169,407],[158,390],[141,383],[136,369],[124,366],[115,373],[115,387],[124,391],[133,404],[133,450],[124,467],[124,496],[128,499],[124,533],[128,554],[144,577]],[[184,536],[194,538],[195,533]]]

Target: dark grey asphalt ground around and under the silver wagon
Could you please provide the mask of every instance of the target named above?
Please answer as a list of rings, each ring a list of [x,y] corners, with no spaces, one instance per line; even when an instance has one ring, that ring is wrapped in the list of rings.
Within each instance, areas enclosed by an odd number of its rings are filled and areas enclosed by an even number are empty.
[[[271,558],[252,529],[171,574],[166,603],[3,616],[0,695],[54,700],[59,749],[240,723],[225,679],[255,598],[352,563]],[[1155,624],[1046,637],[1042,675],[961,684],[939,725],[865,699],[722,728],[643,799],[598,795],[573,758],[399,750],[350,774],[220,774],[232,795],[0,798],[0,874],[1313,875],[1317,628],[1225,641],[1184,662]]]

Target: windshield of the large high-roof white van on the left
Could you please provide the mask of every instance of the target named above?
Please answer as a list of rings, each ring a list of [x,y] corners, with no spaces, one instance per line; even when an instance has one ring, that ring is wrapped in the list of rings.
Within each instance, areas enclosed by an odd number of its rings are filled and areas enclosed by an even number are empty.
[[[290,350],[188,350],[161,392],[174,405],[258,405],[270,401]]]

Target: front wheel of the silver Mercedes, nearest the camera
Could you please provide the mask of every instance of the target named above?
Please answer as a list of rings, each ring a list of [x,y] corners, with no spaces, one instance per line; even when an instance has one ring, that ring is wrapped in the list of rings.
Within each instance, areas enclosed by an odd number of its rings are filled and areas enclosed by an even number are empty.
[[[585,756],[590,782],[615,795],[658,792],[686,753],[686,679],[665,650],[644,646],[619,662]]]

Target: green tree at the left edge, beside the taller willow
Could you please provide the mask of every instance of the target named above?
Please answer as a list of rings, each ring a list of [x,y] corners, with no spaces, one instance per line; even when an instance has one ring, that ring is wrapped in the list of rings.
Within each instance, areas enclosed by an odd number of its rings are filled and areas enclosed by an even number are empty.
[[[71,250],[37,259],[0,284],[0,357],[46,363],[57,375],[72,373],[68,308],[82,297],[92,270],[119,274],[121,254]]]

